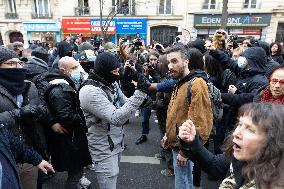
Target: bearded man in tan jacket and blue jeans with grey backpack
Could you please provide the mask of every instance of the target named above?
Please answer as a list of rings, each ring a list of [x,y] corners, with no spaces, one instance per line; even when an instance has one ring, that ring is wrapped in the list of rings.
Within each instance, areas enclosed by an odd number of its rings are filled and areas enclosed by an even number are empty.
[[[170,75],[178,80],[172,92],[167,110],[166,135],[162,139],[164,148],[172,149],[176,189],[192,189],[192,162],[178,147],[178,128],[187,120],[194,119],[198,123],[197,130],[205,143],[213,126],[213,115],[208,86],[203,78],[202,65],[198,61],[189,61],[187,50],[181,45],[166,49]],[[189,70],[195,68],[195,70]],[[199,71],[197,69],[200,69]],[[202,76],[201,76],[202,75]],[[192,80],[190,103],[188,99],[189,81]]]

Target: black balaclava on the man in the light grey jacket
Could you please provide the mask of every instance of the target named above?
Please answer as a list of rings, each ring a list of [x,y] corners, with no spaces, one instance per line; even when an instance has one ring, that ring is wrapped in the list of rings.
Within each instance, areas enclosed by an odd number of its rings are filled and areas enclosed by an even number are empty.
[[[110,72],[117,68],[120,68],[120,63],[118,59],[109,52],[99,54],[94,64],[94,71],[106,81],[112,79]]]

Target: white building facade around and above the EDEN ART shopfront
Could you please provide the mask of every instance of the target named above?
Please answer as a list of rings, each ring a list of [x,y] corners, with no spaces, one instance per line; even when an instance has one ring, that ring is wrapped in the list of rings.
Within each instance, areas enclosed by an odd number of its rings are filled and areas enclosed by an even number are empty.
[[[190,4],[187,25],[193,37],[211,37],[221,25],[222,0],[192,0]],[[284,38],[281,35],[283,18],[283,0],[228,1],[229,34],[240,37],[254,36],[267,42],[275,40],[283,42]]]

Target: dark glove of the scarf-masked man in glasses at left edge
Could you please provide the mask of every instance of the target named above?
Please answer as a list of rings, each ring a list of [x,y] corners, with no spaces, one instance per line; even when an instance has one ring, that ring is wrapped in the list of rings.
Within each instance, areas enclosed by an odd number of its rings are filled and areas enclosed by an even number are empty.
[[[21,118],[25,117],[42,117],[46,113],[46,108],[42,105],[26,105],[20,108]]]

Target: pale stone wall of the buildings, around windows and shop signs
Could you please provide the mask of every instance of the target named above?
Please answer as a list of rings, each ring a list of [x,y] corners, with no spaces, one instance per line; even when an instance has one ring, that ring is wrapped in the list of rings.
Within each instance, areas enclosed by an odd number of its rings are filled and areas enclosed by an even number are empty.
[[[0,0],[0,32],[4,43],[9,42],[9,33],[20,31],[27,42],[26,33],[23,31],[22,22],[61,22],[62,16],[75,16],[75,7],[78,6],[77,0],[50,0],[52,19],[32,19],[33,0],[15,0],[18,19],[6,19],[6,0]],[[159,15],[159,0],[135,0],[135,15],[126,17],[145,17],[147,18],[147,41],[150,40],[150,29],[152,26],[169,25],[178,27],[179,31],[189,30],[193,34],[195,14],[220,14],[222,11],[222,0],[216,0],[214,10],[202,9],[203,0],[172,0],[172,14]],[[240,0],[229,0],[229,14],[234,13],[272,13],[271,23],[263,28],[262,33],[265,40],[271,42],[275,40],[278,23],[284,22],[284,3],[283,0],[258,0],[257,8],[243,9],[243,2]],[[112,8],[112,1],[104,1],[103,15],[107,16]],[[281,9],[282,6],[282,9]],[[89,1],[90,16],[99,16],[99,1]],[[119,15],[124,17],[123,15]]]

